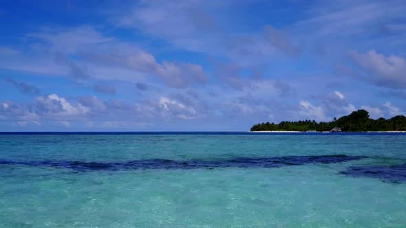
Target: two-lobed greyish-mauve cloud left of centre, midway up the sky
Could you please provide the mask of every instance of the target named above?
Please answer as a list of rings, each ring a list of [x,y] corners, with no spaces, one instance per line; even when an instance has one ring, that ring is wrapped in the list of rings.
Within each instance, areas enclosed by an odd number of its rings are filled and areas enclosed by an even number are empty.
[[[83,53],[94,65],[94,74],[98,78],[142,82],[148,76],[156,76],[174,88],[204,84],[208,80],[201,65],[167,60],[157,62],[148,52],[120,43],[110,44],[104,49]]]

